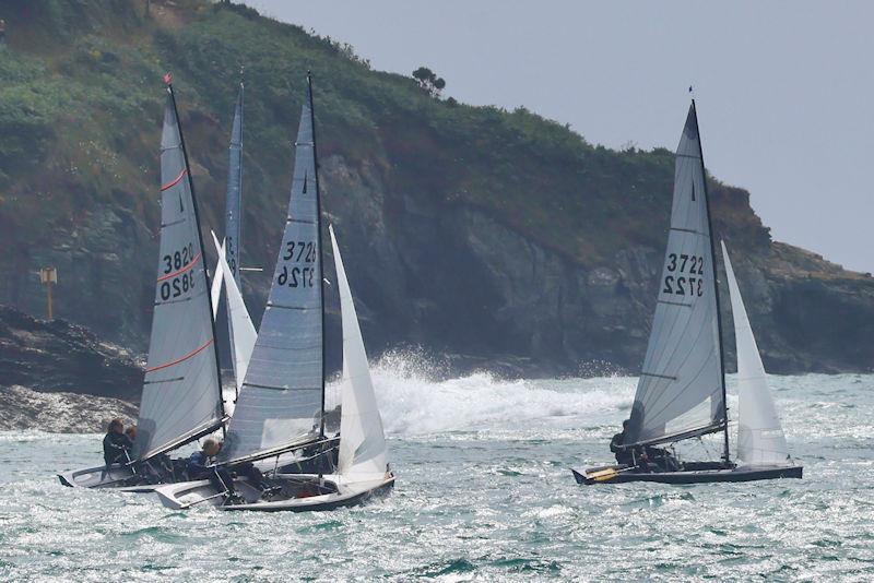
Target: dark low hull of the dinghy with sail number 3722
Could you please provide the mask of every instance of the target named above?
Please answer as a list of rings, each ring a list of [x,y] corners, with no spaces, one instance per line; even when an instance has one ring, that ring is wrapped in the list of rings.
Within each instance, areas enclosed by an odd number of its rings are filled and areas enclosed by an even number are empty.
[[[577,484],[591,486],[594,484],[627,484],[631,481],[651,481],[657,484],[712,484],[719,481],[756,481],[763,479],[801,478],[803,466],[741,466],[714,469],[692,469],[684,472],[630,472],[618,468],[614,474],[604,475],[607,467],[594,467],[582,473],[571,469]],[[600,477],[594,475],[601,473]]]

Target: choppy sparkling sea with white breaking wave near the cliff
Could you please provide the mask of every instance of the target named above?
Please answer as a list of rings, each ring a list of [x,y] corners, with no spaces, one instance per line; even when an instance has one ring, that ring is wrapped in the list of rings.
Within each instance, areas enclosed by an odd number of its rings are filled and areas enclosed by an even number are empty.
[[[63,488],[101,436],[0,433],[0,579],[874,580],[872,376],[770,379],[803,480],[598,487],[569,468],[611,460],[635,379],[374,377],[397,489],[327,513]]]

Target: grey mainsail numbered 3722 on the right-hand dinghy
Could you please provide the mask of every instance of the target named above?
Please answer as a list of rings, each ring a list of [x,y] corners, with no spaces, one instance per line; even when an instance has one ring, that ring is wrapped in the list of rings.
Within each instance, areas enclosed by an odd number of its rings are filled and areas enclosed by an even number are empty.
[[[724,391],[710,222],[695,104],[676,151],[671,230],[626,443],[719,429]]]

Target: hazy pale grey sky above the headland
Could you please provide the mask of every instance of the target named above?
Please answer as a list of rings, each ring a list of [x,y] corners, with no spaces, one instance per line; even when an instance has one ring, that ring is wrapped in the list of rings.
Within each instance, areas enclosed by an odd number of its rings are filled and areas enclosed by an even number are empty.
[[[775,238],[874,272],[874,2],[246,3],[611,147],[674,150],[694,85],[709,170],[751,191]]]

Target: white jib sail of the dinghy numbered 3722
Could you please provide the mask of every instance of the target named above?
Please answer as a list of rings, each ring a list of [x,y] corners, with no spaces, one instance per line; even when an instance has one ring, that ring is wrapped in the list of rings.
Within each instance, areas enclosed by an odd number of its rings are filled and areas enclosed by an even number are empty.
[[[789,460],[789,448],[768,389],[765,366],[749,326],[725,241],[722,241],[722,258],[729,278],[731,314],[737,344],[737,457],[748,465],[782,464]]]

